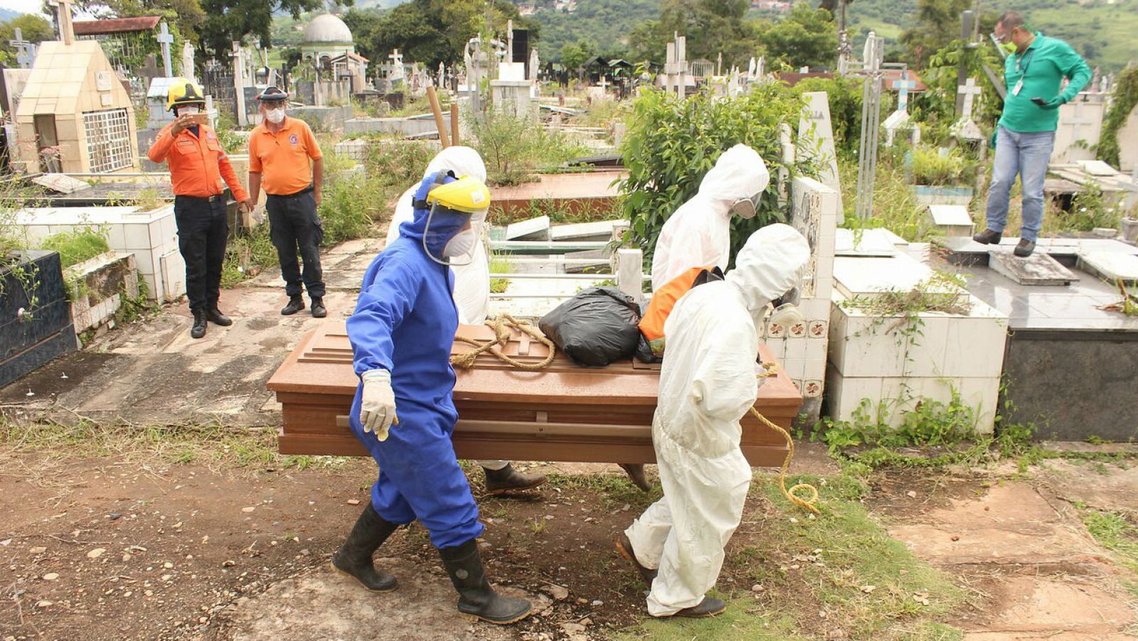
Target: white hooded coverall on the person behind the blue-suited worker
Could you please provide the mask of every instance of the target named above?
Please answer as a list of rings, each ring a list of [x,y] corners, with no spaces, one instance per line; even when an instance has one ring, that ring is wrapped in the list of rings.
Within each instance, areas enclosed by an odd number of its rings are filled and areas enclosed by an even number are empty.
[[[423,178],[444,169],[454,172],[455,176],[473,176],[486,182],[486,164],[477,151],[469,147],[447,147],[438,153]],[[414,207],[411,200],[419,184],[411,185],[403,192],[395,205],[391,225],[387,228],[387,244],[399,238],[399,225],[414,218]],[[475,256],[470,265],[454,265],[454,306],[459,308],[459,323],[463,325],[481,325],[490,313],[490,266],[487,258],[486,243],[479,238],[475,244]]]

